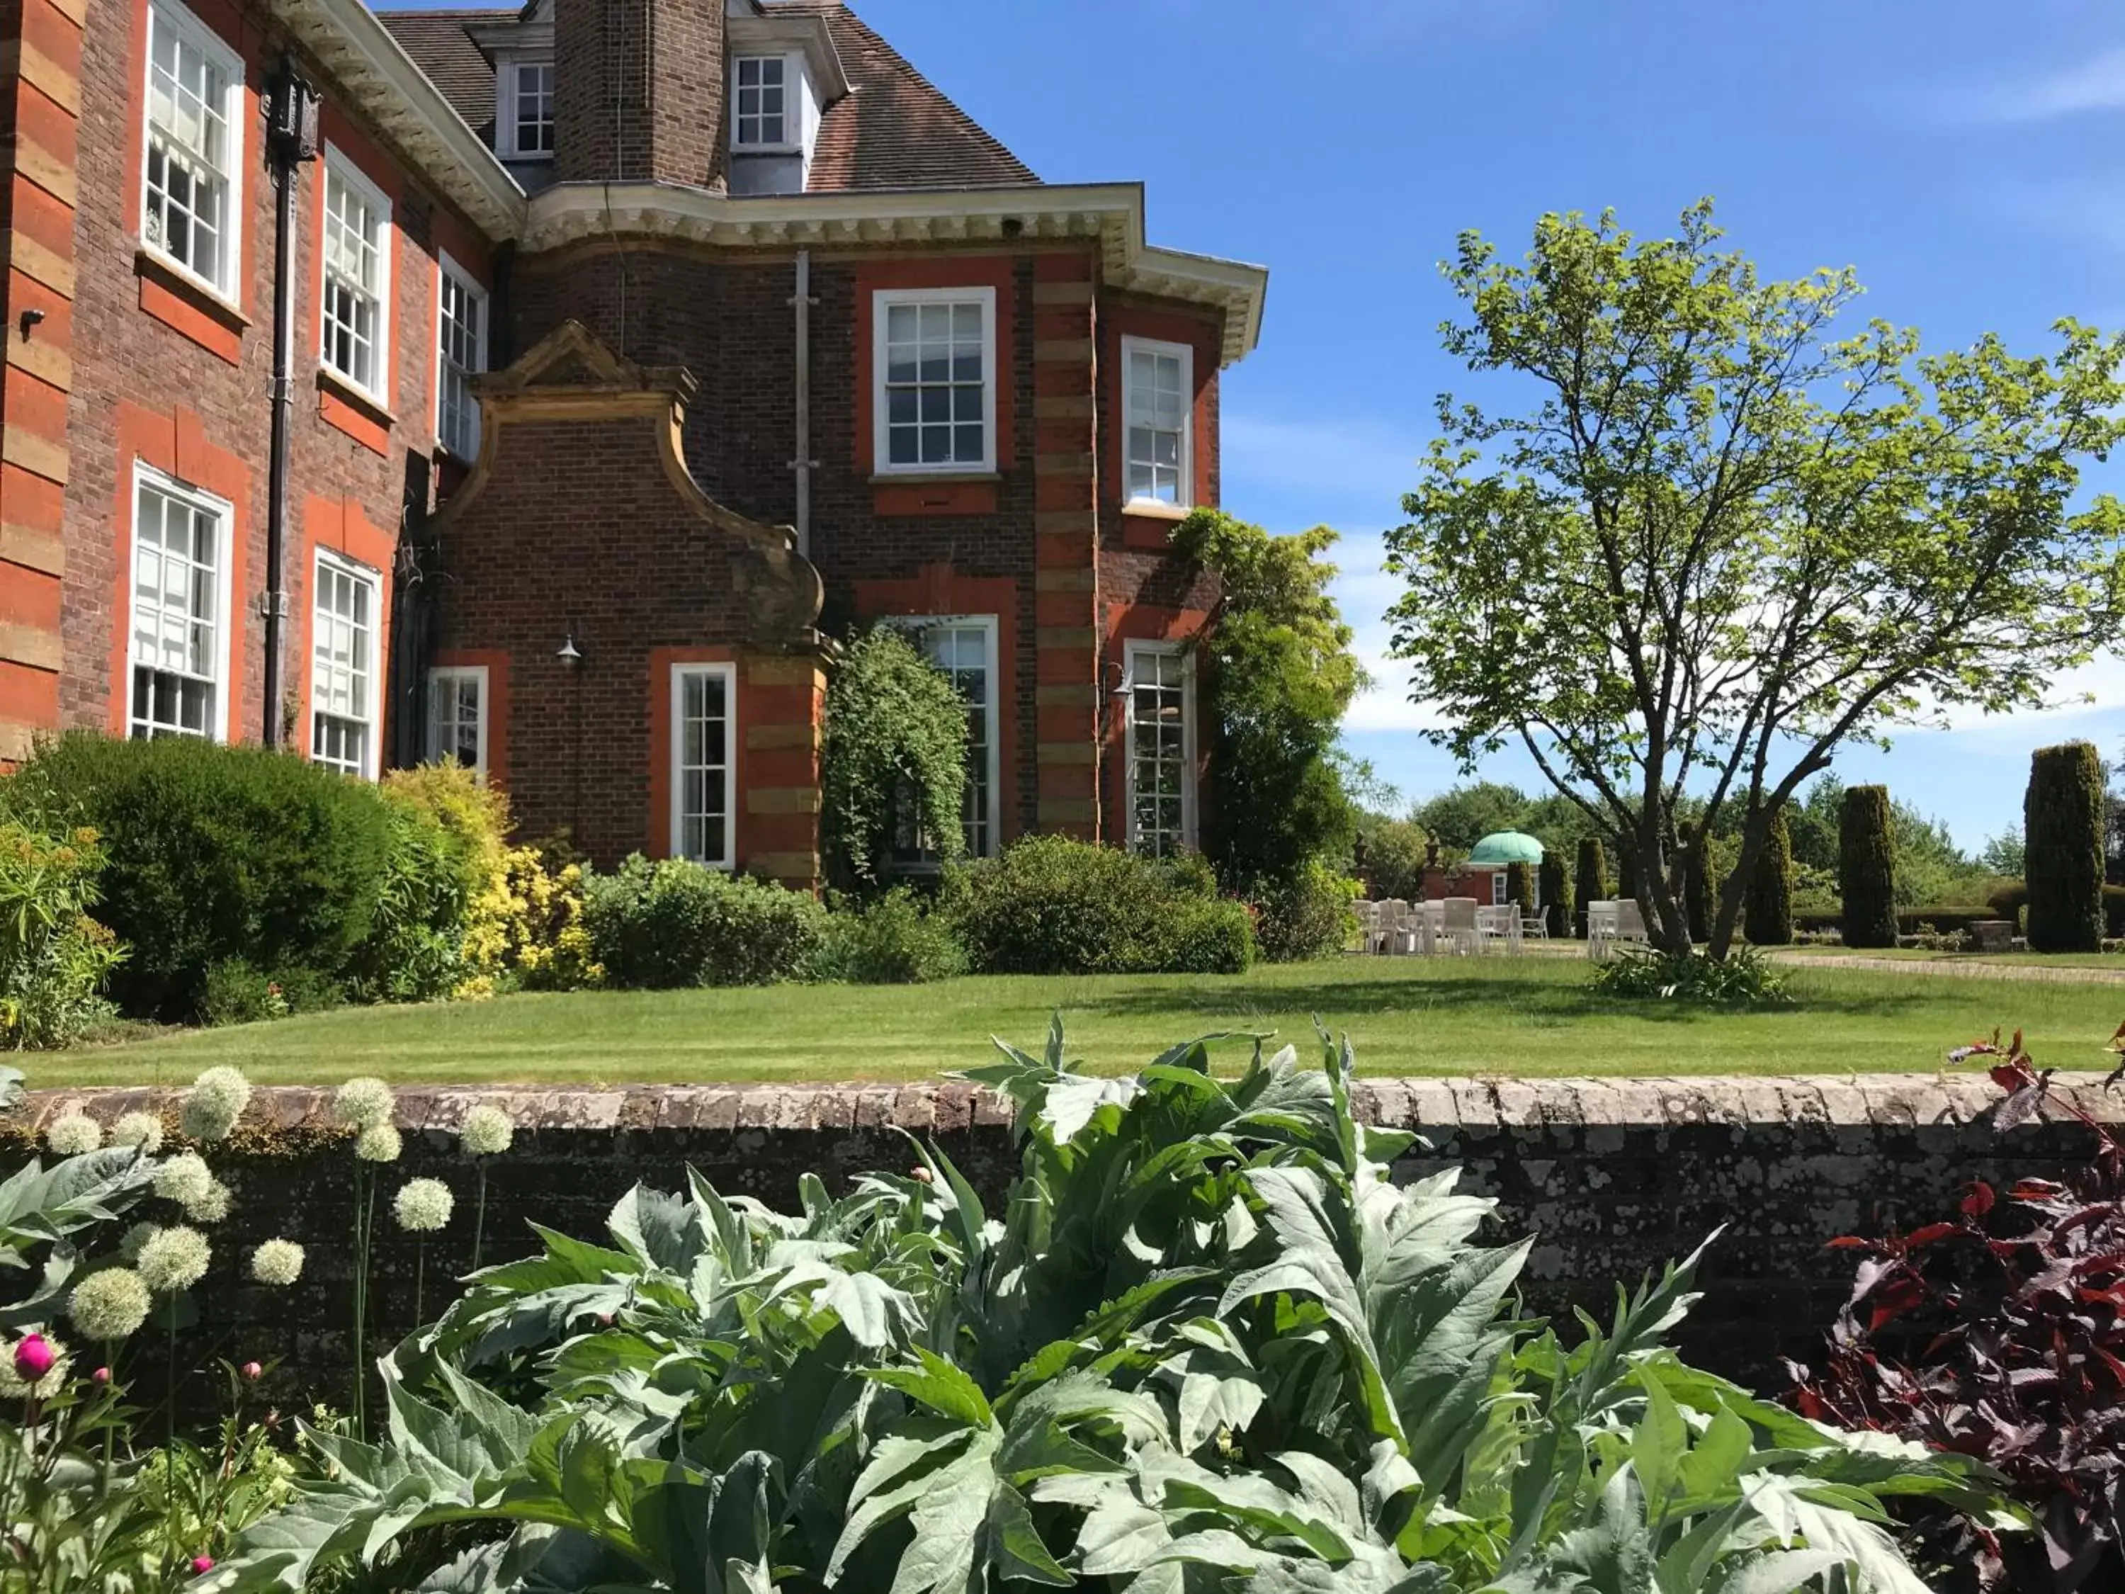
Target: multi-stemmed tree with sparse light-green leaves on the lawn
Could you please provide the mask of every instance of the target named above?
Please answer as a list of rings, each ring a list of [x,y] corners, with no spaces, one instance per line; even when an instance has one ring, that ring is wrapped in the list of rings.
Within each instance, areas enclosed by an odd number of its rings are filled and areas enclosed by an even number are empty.
[[[1717,249],[1547,215],[1524,266],[1464,234],[1447,353],[1534,387],[1441,400],[1394,648],[1464,765],[1519,744],[1636,863],[1687,950],[1689,854],[1738,810],[1723,956],[1770,814],[1836,752],[1955,706],[2044,703],[2125,629],[2125,508],[2070,508],[2125,436],[2125,340],[2066,321],[1921,355],[1838,319],[1853,272],[1762,281]],[[1683,799],[1702,808],[1679,825]]]

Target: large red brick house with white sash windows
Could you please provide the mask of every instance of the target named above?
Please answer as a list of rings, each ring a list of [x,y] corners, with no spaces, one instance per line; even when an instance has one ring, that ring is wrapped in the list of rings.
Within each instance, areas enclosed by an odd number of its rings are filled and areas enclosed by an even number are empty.
[[[831,638],[890,616],[978,852],[1192,840],[1167,533],[1266,281],[1141,187],[1039,183],[837,0],[0,38],[0,757],[448,752],[599,861],[812,882]]]

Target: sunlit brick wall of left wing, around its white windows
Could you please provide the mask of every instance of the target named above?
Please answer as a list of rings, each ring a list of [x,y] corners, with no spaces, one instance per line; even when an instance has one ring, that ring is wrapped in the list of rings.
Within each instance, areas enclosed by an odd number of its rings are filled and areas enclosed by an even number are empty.
[[[242,270],[234,302],[189,287],[140,249],[144,0],[87,0],[83,96],[104,106],[81,125],[79,291],[72,304],[74,393],[68,408],[64,669],[66,725],[121,729],[136,457],[208,487],[234,506],[236,565],[230,642],[236,693],[230,731],[264,727],[266,457],[272,383],[274,191],[264,170],[261,96],[278,40],[227,0],[193,13],[246,62]],[[323,81],[312,70],[314,81]],[[361,406],[319,380],[319,238],[323,164],[302,170],[295,223],[295,410],[285,674],[298,699],[293,735],[308,746],[308,661],[302,655],[314,550],[334,546],[376,565],[389,608],[400,531],[429,502],[434,446],[436,251],[484,276],[487,244],[406,174],[382,142],[327,104],[325,138],[393,206],[391,368],[387,408]],[[378,669],[378,686],[385,672]],[[378,725],[382,744],[389,729]]]

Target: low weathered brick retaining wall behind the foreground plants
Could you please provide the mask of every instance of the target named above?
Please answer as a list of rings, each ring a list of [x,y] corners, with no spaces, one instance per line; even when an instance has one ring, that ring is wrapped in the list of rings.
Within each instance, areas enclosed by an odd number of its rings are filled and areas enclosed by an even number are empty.
[[[2076,1078],[2061,1095],[2100,1120],[2125,1120],[2125,1092],[2106,1097],[2097,1075]],[[1706,1301],[1681,1339],[1704,1364],[1766,1388],[1779,1354],[1815,1354],[1849,1288],[1849,1258],[1823,1241],[1930,1222],[1968,1180],[2061,1173],[2091,1150],[2089,1131],[2063,1114],[1995,1135],[1989,1114],[2000,1092],[1980,1073],[1371,1080],[1358,1097],[1368,1120],[1430,1139],[1400,1173],[1462,1165],[1475,1190],[1500,1199],[1504,1233],[1538,1233],[1526,1277],[1536,1311],[1581,1305],[1606,1318],[1619,1279],[1638,1279],[1723,1226],[1702,1275]],[[157,1090],[32,1092],[0,1120],[17,1141],[0,1143],[0,1167],[17,1163],[21,1139],[66,1107],[83,1105],[104,1122],[149,1107],[174,1122],[176,1101]],[[688,1165],[727,1192],[790,1205],[803,1171],[839,1188],[865,1169],[907,1167],[899,1131],[933,1137],[990,1203],[1018,1163],[999,1103],[965,1084],[400,1090],[406,1156],[385,1188],[436,1175],[459,1192],[457,1220],[427,1254],[429,1313],[448,1288],[438,1279],[470,1260],[474,1177],[450,1131],[480,1101],[506,1107],[518,1124],[516,1146],[493,1163],[489,1260],[529,1245],[527,1220],[601,1237],[606,1211],[631,1184],[682,1188]],[[215,1233],[221,1254],[200,1290],[210,1354],[285,1358],[338,1398],[353,1160],[329,1124],[329,1092],[261,1088],[215,1163],[238,1192],[238,1211]],[[376,1226],[380,1339],[389,1341],[414,1322],[414,1252],[382,1211]],[[238,1254],[276,1233],[310,1250],[295,1290],[238,1277]]]

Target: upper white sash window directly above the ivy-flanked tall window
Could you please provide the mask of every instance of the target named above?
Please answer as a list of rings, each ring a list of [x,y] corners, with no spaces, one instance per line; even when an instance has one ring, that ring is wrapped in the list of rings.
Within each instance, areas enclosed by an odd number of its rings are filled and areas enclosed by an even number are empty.
[[[992,287],[878,293],[876,468],[988,472],[997,468],[997,291]]]

